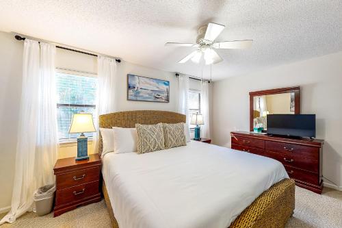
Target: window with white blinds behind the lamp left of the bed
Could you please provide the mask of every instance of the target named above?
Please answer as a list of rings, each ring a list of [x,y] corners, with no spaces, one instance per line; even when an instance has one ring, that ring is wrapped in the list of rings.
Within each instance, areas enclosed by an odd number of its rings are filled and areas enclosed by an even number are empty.
[[[96,77],[73,73],[56,73],[58,138],[67,140],[79,134],[68,134],[73,113],[94,113],[96,103]],[[92,133],[85,134],[92,137]]]

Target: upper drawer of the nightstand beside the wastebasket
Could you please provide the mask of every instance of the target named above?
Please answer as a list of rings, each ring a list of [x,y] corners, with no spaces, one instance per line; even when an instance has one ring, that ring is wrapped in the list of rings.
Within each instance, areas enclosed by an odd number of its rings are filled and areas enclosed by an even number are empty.
[[[100,167],[86,168],[61,175],[56,175],[56,188],[62,190],[82,183],[96,181],[100,177]]]

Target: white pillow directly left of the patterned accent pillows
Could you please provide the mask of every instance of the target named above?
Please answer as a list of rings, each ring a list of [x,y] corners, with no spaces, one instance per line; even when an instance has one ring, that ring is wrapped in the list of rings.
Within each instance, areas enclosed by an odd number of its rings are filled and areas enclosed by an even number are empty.
[[[137,152],[137,130],[135,128],[113,127],[114,153]]]

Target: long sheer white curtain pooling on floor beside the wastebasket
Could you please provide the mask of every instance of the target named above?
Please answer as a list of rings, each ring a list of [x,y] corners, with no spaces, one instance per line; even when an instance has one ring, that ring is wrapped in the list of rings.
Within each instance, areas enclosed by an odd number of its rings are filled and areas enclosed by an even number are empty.
[[[12,223],[32,210],[34,191],[55,182],[57,117],[54,64],[54,45],[25,40],[12,204],[0,224]]]

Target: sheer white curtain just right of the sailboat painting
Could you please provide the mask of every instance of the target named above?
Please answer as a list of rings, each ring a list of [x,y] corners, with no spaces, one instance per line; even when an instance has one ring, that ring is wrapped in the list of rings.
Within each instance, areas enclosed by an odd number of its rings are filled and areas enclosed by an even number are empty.
[[[187,92],[189,92],[189,77],[187,75],[179,74],[179,104],[178,112],[187,116],[187,125],[189,125],[189,110],[187,105]]]

